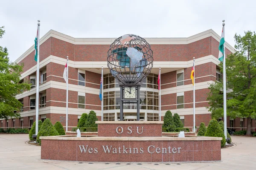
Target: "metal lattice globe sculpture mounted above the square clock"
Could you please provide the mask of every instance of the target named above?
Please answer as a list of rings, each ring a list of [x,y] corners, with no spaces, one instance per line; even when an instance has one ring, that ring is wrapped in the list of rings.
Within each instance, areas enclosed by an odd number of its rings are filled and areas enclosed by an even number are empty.
[[[110,45],[108,68],[122,84],[138,84],[148,76],[152,67],[153,51],[144,38],[126,34]]]

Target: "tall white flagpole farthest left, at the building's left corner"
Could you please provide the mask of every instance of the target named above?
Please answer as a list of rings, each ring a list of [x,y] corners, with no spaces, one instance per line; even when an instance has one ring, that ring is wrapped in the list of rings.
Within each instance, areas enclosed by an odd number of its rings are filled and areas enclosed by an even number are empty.
[[[36,70],[36,102],[35,102],[35,135],[38,135],[38,110],[39,110],[39,36],[40,20],[38,20],[38,54],[37,54],[37,70]]]

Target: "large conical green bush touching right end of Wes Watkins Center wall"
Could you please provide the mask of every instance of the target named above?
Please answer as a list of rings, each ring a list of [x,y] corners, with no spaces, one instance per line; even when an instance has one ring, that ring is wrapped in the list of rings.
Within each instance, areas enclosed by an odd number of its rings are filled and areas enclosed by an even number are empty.
[[[226,144],[226,138],[221,126],[218,124],[217,120],[211,119],[207,127],[205,136],[211,137],[222,137],[221,147],[224,147]]]

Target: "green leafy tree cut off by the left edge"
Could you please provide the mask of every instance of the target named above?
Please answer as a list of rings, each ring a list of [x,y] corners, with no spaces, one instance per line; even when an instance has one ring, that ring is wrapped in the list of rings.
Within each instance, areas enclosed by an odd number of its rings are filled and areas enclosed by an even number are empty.
[[[2,26],[0,27],[0,39],[4,33],[4,27]],[[15,96],[22,93],[23,90],[30,89],[29,84],[20,82],[22,68],[23,65],[10,62],[7,48],[0,46],[0,119],[20,117],[18,111],[23,105]]]

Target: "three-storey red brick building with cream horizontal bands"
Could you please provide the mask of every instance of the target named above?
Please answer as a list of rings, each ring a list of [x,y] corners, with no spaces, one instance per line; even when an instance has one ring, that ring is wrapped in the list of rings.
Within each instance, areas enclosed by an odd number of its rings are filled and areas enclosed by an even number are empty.
[[[209,84],[221,79],[218,71],[220,37],[212,30],[187,38],[145,38],[154,52],[151,74],[143,81],[140,91],[140,119],[159,119],[159,90],[157,77],[161,66],[161,117],[166,111],[178,113],[185,127],[193,125],[193,86],[190,74],[195,57],[196,126],[211,119],[207,110]],[[107,67],[107,51],[115,38],[73,38],[50,30],[40,40],[40,103],[39,119],[60,121],[66,125],[66,83],[63,71],[69,57],[69,121],[77,125],[82,113],[96,112],[101,119],[99,88],[101,67],[104,67],[104,120],[118,120],[120,91],[117,81]],[[234,48],[226,44],[226,54]],[[35,121],[36,62],[34,46],[15,62],[24,63],[21,79],[32,84],[30,91],[17,95],[23,103],[19,119],[0,120],[1,127],[31,127]],[[124,106],[124,119],[136,119],[135,105]],[[222,119],[222,118],[220,118]],[[227,127],[246,127],[246,119],[227,118]],[[255,120],[252,126],[255,128]]]

